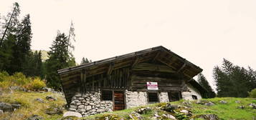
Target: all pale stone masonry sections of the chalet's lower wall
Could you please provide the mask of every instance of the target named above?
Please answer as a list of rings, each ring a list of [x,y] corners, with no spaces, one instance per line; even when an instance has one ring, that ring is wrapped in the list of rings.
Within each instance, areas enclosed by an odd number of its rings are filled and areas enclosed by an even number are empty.
[[[181,93],[182,99],[191,100],[191,95],[196,95],[201,99],[199,91],[194,91],[191,87],[189,87],[189,90],[190,91],[184,91]],[[146,91],[125,90],[124,95],[125,109],[149,104],[148,94]],[[160,102],[169,102],[168,92],[159,92],[158,99]],[[113,101],[101,101],[100,92],[90,91],[85,94],[77,93],[72,97],[69,110],[77,111],[82,114],[82,116],[100,114],[107,111],[113,111]]]

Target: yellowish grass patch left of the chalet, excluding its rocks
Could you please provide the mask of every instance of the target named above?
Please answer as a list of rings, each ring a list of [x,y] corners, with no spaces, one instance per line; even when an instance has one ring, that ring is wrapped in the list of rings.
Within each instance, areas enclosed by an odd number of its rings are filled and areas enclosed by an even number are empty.
[[[53,96],[57,98],[57,101],[47,101],[45,99],[46,96]],[[40,103],[39,101],[35,101],[34,99],[41,98],[44,100],[44,103]],[[57,106],[63,108],[65,106],[66,101],[64,96],[60,94],[53,94],[50,92],[47,93],[39,93],[39,92],[23,92],[23,91],[14,91],[12,94],[4,93],[0,97],[0,101],[6,103],[15,103],[18,102],[22,104],[20,109],[12,113],[4,113],[0,116],[0,119],[10,119],[10,120],[22,120],[27,119],[29,116],[33,114],[37,114],[39,116],[44,117],[44,119],[58,119],[61,118],[62,115],[54,115],[50,116],[45,114],[45,110],[52,106]]]

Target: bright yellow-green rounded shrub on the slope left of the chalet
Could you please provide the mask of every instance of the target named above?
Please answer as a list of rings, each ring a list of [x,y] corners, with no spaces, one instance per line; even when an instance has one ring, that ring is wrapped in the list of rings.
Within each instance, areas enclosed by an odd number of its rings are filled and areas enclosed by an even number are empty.
[[[35,78],[33,81],[31,81],[29,83],[29,86],[27,89],[31,89],[31,90],[39,90],[42,89],[43,87],[45,87],[46,84],[44,83],[44,81],[42,81],[41,79],[39,79],[38,77]]]

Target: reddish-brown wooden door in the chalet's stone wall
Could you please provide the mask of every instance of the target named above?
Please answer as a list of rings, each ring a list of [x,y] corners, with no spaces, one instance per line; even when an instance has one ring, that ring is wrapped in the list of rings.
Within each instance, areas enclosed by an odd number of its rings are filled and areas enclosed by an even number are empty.
[[[123,91],[114,91],[114,111],[125,109]]]

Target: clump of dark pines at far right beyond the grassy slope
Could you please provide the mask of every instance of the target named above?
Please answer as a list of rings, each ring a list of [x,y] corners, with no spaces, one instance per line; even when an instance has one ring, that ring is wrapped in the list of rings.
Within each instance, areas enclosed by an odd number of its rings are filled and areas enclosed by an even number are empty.
[[[223,60],[222,67],[214,67],[214,79],[217,85],[217,94],[221,97],[247,97],[248,91],[254,89],[255,76],[253,70],[234,66],[227,59]]]

